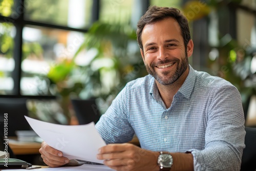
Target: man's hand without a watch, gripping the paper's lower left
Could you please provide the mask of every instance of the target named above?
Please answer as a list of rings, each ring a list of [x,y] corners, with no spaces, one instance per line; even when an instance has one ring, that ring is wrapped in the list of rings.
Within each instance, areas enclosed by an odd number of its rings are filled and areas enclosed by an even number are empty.
[[[69,159],[63,157],[62,152],[49,146],[45,141],[42,142],[39,152],[44,162],[50,167],[59,167],[69,163]]]

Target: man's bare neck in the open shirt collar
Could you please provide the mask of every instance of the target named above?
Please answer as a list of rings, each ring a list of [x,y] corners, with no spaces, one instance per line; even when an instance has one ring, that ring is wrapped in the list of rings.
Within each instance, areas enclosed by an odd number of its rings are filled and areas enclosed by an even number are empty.
[[[187,67],[187,69],[180,76],[179,79],[177,79],[174,83],[166,85],[166,86],[164,86],[163,84],[160,84],[158,81],[156,81],[159,94],[160,94],[167,109],[172,104],[174,95],[181,88],[182,84],[184,83],[185,79],[187,78],[188,73],[189,73],[189,67]]]

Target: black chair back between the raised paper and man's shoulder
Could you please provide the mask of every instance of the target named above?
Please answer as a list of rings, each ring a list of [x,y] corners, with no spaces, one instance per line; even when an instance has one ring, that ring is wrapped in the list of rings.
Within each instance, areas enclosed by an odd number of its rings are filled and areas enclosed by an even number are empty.
[[[95,99],[71,99],[71,102],[79,124],[88,124],[90,122],[96,124],[98,122],[100,112]]]

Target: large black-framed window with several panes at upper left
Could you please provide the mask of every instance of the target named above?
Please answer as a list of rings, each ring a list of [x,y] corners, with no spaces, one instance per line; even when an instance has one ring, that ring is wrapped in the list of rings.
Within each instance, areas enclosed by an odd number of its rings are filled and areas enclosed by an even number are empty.
[[[98,19],[98,4],[95,0],[0,1],[0,95],[55,95],[44,78],[54,62],[75,54],[84,33]]]

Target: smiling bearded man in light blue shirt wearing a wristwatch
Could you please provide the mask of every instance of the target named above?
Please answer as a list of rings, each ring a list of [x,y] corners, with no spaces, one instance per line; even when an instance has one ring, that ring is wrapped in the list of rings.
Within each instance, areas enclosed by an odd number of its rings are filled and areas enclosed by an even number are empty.
[[[127,83],[97,122],[108,144],[97,158],[115,170],[240,170],[240,94],[188,64],[194,45],[184,15],[150,7],[138,22],[137,39],[149,75]],[[134,134],[141,148],[125,143]],[[39,151],[49,166],[69,162],[45,142]]]

